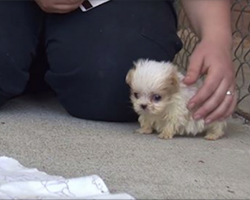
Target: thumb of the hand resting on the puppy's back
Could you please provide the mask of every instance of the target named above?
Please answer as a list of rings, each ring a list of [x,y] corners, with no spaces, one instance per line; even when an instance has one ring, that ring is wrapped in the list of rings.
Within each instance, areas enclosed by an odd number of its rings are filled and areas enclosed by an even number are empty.
[[[187,73],[183,82],[187,85],[195,83],[200,77],[202,65],[203,57],[198,53],[193,52],[193,55],[190,57]]]

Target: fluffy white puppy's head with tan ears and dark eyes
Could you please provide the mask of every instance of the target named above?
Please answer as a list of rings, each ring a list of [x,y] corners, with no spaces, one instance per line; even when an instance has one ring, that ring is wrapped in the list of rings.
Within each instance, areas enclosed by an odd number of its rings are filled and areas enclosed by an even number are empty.
[[[139,115],[161,114],[179,90],[176,67],[170,62],[140,59],[126,76],[131,88],[130,99]]]

